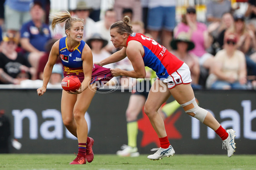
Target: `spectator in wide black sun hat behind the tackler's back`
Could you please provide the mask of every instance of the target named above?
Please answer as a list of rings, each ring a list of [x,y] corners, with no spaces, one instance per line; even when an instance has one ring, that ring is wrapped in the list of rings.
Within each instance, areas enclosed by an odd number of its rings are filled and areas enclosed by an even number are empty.
[[[180,32],[177,37],[170,42],[170,45],[172,47],[171,53],[189,66],[192,88],[201,89],[201,85],[198,85],[200,76],[199,61],[198,57],[189,52],[195,48],[195,44],[190,40],[189,35],[185,32]]]

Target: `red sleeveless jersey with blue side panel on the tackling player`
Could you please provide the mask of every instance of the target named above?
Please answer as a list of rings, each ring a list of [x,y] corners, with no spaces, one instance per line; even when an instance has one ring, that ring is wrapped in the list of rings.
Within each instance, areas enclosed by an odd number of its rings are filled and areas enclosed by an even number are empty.
[[[135,40],[144,48],[143,61],[145,66],[152,68],[158,78],[167,78],[183,65],[183,61],[170,53],[163,45],[140,33],[132,33],[126,42]]]

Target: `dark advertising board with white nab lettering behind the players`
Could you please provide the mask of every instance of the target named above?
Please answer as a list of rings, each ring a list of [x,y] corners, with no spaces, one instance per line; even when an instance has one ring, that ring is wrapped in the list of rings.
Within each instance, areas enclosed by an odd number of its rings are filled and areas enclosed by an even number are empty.
[[[125,110],[129,91],[116,90],[93,98],[87,111],[94,153],[116,153],[127,144]],[[226,128],[236,130],[236,153],[256,154],[256,91],[195,91],[199,105]],[[11,122],[12,139],[22,144],[12,153],[73,153],[77,140],[61,120],[61,90],[47,90],[39,97],[35,89],[1,89],[0,110]],[[171,102],[172,97],[167,102]],[[226,154],[213,130],[179,108],[165,119],[169,141],[177,154]],[[137,145],[140,153],[159,147],[158,138],[145,113],[138,118]],[[40,147],[39,147],[40,146]]]

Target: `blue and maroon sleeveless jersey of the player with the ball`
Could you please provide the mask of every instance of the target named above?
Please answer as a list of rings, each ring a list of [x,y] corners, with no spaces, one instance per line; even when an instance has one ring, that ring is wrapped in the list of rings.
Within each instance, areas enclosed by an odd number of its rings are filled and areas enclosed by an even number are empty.
[[[67,47],[67,37],[62,37],[59,42],[59,57],[63,65],[64,77],[76,76],[82,81],[84,79],[83,61],[81,58],[85,42],[81,40],[73,51]]]

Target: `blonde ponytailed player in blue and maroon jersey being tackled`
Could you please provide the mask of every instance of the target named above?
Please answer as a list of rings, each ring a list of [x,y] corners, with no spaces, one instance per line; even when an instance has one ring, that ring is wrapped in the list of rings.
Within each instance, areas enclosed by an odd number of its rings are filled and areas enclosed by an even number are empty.
[[[82,40],[84,20],[71,17],[70,13],[59,12],[50,16],[52,29],[58,23],[65,23],[63,37],[52,46],[48,62],[44,68],[43,85],[38,88],[39,96],[46,92],[47,84],[52,73],[53,65],[58,57],[62,60],[64,77],[74,75],[80,79],[79,90],[62,91],[61,114],[64,125],[74,136],[77,137],[79,150],[76,159],[70,164],[85,164],[93,161],[93,139],[87,137],[88,127],[84,114],[89,108],[90,102],[96,92],[96,81],[108,81],[113,76],[109,68],[93,65],[93,55],[89,46]]]

